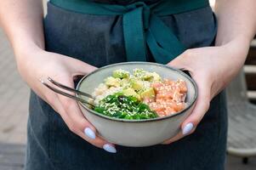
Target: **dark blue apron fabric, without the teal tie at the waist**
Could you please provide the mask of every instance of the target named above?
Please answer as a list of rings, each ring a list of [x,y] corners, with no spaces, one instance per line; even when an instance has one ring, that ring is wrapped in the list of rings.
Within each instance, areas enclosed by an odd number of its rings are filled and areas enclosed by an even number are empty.
[[[97,0],[127,5],[130,1]],[[150,0],[148,3],[154,3]],[[211,46],[216,21],[210,7],[162,16],[185,48]],[[46,50],[101,67],[127,61],[122,16],[73,12],[48,3],[44,20]],[[206,56],[208,57],[208,56]],[[155,62],[147,49],[147,61]],[[195,133],[179,141],[150,147],[117,145],[117,154],[88,144],[71,133],[60,115],[31,91],[27,125],[26,170],[44,169],[168,169],[222,170],[225,168],[227,113],[225,94],[212,101]]]

